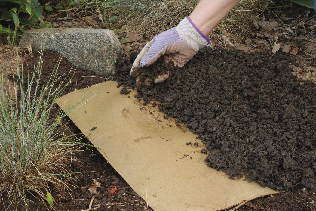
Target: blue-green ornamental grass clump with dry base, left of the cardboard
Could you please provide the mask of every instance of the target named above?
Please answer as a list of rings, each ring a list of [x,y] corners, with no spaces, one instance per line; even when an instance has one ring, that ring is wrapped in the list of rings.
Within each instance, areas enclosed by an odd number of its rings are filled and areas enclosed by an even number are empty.
[[[78,150],[77,142],[63,135],[61,120],[67,114],[54,105],[67,83],[57,83],[57,64],[40,84],[42,61],[41,56],[32,73],[17,67],[11,88],[0,77],[0,193],[9,210],[29,209],[34,199],[47,206],[47,191],[55,193],[55,200],[64,195],[72,153]]]

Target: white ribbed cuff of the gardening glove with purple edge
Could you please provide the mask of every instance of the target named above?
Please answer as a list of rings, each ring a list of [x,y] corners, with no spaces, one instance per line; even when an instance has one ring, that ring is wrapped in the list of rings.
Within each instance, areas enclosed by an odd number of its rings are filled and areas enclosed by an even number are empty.
[[[181,40],[188,44],[196,52],[210,43],[206,37],[187,16],[175,28]]]

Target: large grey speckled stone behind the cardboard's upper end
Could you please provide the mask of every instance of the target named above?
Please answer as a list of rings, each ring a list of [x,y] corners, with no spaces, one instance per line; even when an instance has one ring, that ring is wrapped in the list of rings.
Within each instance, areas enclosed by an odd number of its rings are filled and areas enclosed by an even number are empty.
[[[32,45],[60,53],[71,64],[100,76],[117,72],[122,46],[112,30],[92,28],[42,28],[23,33],[19,47]]]

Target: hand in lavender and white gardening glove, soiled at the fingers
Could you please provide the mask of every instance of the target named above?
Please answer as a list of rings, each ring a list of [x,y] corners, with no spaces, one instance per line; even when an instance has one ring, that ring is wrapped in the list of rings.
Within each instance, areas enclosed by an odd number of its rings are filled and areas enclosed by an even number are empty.
[[[131,68],[131,76],[136,77],[140,67],[153,64],[159,57],[165,55],[165,61],[173,61],[175,66],[183,65],[191,59],[198,50],[210,42],[187,16],[175,28],[171,28],[158,34],[145,45],[137,55]],[[169,77],[169,73],[162,74],[154,79],[155,83],[161,83]]]

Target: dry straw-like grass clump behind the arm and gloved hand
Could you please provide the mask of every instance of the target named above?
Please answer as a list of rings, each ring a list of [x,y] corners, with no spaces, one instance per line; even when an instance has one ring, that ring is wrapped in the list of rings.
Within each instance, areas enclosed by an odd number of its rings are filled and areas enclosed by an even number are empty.
[[[149,36],[175,27],[183,18],[190,15],[198,0],[108,0],[99,6],[118,16],[116,27],[122,31],[134,31]],[[253,28],[252,19],[264,11],[266,0],[241,0],[240,3],[219,23],[210,35],[212,41],[224,44],[222,35],[236,42],[245,32]]]

